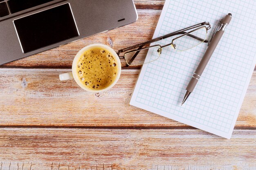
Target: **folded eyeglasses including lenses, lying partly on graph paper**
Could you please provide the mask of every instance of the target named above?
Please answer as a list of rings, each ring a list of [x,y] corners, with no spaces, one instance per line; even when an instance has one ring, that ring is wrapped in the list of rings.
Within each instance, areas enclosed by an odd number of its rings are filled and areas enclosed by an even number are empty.
[[[135,46],[121,49],[117,52],[117,55],[120,59],[125,59],[127,63],[126,66],[138,66],[150,63],[160,57],[162,53],[162,48],[166,46],[171,46],[173,49],[184,51],[187,49],[191,49],[201,44],[202,42],[208,43],[208,40],[206,40],[206,38],[207,31],[210,28],[211,25],[209,22],[202,22],[200,24],[189,26],[185,29],[175,31],[173,33],[169,33],[167,35],[154,38],[153,40],[149,40]],[[167,42],[168,44],[162,46],[160,44],[157,44],[157,41],[160,40],[166,40],[165,42]],[[146,54],[148,52],[150,52],[150,54],[152,53],[152,55],[150,58],[147,58],[145,60]]]

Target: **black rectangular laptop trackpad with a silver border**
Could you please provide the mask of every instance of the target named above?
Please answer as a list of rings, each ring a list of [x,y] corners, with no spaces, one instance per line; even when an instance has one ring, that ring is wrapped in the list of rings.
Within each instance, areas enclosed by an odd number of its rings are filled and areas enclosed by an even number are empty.
[[[79,36],[70,4],[13,20],[23,53]]]

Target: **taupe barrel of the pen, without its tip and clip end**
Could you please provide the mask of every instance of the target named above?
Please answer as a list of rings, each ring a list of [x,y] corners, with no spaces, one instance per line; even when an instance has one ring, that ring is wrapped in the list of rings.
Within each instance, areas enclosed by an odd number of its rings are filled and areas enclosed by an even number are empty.
[[[202,60],[198,64],[198,67],[195,70],[195,73],[192,75],[192,78],[186,87],[186,90],[189,92],[193,92],[193,89],[195,88],[195,85],[198,83],[198,80],[200,79],[204,68],[207,66],[207,63],[209,62],[211,55],[213,54],[214,50],[216,49],[216,46],[218,45],[224,31],[220,30],[215,33],[211,40],[211,44],[208,46],[207,50],[204,53],[204,56],[202,57]]]

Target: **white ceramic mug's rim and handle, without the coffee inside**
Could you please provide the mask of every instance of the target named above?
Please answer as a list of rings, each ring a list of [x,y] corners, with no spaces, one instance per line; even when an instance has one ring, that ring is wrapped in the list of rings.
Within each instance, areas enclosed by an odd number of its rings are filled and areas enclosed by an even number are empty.
[[[101,49],[104,49],[106,51],[109,51],[113,55],[113,57],[115,57],[115,60],[117,61],[118,71],[117,71],[117,76],[115,78],[115,81],[112,82],[112,84],[110,84],[110,86],[107,86],[106,88],[103,88],[103,89],[100,89],[100,90],[92,90],[92,89],[89,89],[89,88],[85,87],[85,85],[83,85],[79,81],[78,74],[76,73],[76,67],[77,67],[77,62],[79,60],[79,57],[81,57],[81,55],[83,55],[83,53],[85,53],[85,51],[88,51],[92,48],[101,48]],[[85,46],[83,49],[81,49],[76,54],[76,56],[73,60],[73,64],[72,64],[72,72],[61,74],[61,75],[59,75],[59,77],[60,77],[61,81],[68,80],[68,79],[75,79],[76,83],[81,88],[83,88],[84,90],[89,91],[89,92],[93,92],[93,93],[99,93],[99,92],[103,92],[103,91],[108,91],[110,88],[112,88],[117,83],[117,81],[120,77],[120,74],[121,74],[121,62],[120,62],[120,59],[119,59],[117,53],[113,49],[111,49],[109,46],[106,46],[104,44],[92,44],[92,45]]]

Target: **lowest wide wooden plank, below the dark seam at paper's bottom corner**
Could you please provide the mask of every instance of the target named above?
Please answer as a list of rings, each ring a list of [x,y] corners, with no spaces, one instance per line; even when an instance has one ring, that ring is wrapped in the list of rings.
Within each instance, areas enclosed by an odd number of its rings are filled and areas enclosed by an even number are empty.
[[[224,139],[197,129],[0,128],[0,160],[255,168],[255,141],[256,130]]]

